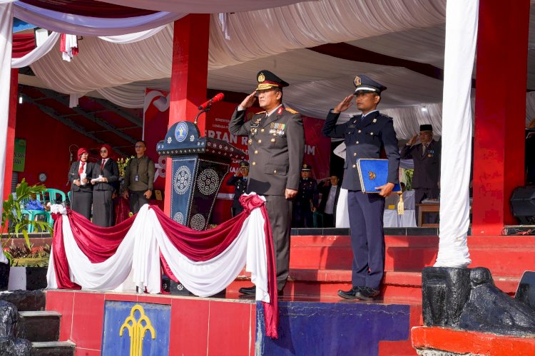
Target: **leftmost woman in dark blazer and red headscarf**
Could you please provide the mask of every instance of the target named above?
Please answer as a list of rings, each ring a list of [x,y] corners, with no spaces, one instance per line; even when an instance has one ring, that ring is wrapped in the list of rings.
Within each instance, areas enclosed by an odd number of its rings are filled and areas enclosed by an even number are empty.
[[[93,163],[88,162],[89,152],[81,147],[78,150],[78,161],[73,162],[68,171],[71,182],[71,209],[91,219],[91,203],[93,201]]]

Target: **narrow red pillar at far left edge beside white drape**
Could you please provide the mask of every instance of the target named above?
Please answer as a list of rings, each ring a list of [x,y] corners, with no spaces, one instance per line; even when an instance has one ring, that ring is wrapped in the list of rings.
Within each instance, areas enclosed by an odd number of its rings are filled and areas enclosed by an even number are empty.
[[[6,168],[4,170],[4,200],[11,194],[11,177],[13,175],[13,156],[15,150],[16,104],[19,94],[19,70],[11,69],[9,85],[9,118],[7,122]]]

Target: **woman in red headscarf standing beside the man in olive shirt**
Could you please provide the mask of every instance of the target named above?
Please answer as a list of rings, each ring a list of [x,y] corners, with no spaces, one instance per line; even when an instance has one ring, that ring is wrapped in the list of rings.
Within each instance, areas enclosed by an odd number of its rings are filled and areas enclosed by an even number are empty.
[[[101,145],[101,159],[93,169],[93,224],[108,227],[113,225],[113,201],[111,196],[115,190],[114,183],[119,179],[117,162],[111,159],[110,145]]]

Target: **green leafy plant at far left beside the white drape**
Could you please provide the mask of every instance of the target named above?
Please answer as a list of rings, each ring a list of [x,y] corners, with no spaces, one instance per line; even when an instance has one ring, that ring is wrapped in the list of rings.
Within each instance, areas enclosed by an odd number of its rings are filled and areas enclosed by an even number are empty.
[[[21,234],[24,236],[26,246],[30,248],[30,239],[28,236],[29,226],[33,226],[34,231],[48,231],[52,234],[52,228],[46,221],[30,220],[27,214],[22,214],[24,204],[41,194],[46,187],[41,184],[30,186],[25,179],[16,187],[14,194],[4,201],[2,209],[2,221],[0,226],[2,252],[11,261],[8,246],[9,241]],[[7,250],[7,251],[6,251]],[[6,290],[9,281],[10,263],[0,263],[0,290]]]

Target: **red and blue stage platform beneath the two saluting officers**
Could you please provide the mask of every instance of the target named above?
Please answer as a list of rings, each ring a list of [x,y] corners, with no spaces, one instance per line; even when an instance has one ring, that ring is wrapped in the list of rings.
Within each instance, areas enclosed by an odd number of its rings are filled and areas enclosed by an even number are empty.
[[[169,353],[144,348],[143,355],[416,355],[409,330],[422,325],[421,271],[434,263],[439,239],[399,234],[387,235],[385,242],[382,297],[363,302],[337,296],[337,290],[351,288],[349,236],[292,236],[278,340],[263,334],[261,304],[238,293],[251,286],[245,271],[225,298],[49,290],[46,309],[63,315],[60,340],[75,342],[76,355],[111,355],[108,350],[126,347],[117,325],[112,328],[106,318],[121,325],[136,303],[153,313],[151,320],[163,318],[168,330],[162,342],[168,342]],[[470,267],[490,268],[496,286],[510,295],[522,273],[534,268],[535,236],[469,236],[468,244]]]

